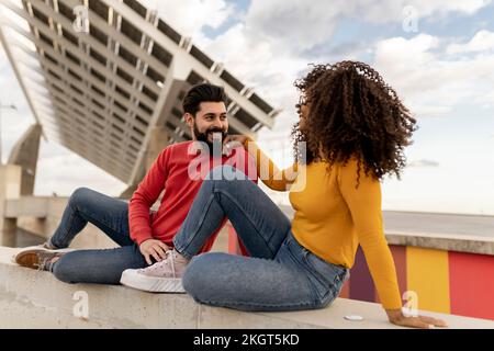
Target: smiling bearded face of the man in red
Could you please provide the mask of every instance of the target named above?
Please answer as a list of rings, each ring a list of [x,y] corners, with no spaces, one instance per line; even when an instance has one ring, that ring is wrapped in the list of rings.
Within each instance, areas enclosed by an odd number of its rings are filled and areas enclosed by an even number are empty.
[[[228,118],[223,102],[201,102],[195,117],[186,114],[186,121],[192,129],[195,140],[206,143],[213,150],[213,133],[222,134],[222,141],[228,134]]]

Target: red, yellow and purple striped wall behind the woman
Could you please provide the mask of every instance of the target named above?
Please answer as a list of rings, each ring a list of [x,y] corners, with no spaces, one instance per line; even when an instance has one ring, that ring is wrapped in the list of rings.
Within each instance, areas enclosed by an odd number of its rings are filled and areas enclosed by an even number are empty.
[[[240,253],[229,227],[229,252]],[[494,256],[390,245],[402,294],[416,293],[418,309],[494,319]],[[366,258],[359,248],[340,297],[378,302]]]

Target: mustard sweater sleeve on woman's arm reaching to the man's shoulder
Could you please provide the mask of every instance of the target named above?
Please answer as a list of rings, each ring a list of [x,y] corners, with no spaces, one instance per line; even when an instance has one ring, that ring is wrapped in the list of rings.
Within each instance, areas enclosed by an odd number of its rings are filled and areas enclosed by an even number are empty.
[[[284,170],[280,170],[274,162],[257,146],[252,139],[247,139],[244,144],[250,156],[256,161],[257,174],[259,179],[272,190],[288,191],[295,181],[297,165],[293,165]]]

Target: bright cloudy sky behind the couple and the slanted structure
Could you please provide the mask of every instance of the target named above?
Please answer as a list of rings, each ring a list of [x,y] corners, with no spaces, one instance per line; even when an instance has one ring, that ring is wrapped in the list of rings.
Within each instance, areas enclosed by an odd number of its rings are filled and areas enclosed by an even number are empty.
[[[494,215],[494,1],[146,0],[168,24],[282,112],[259,144],[291,162],[293,87],[308,64],[374,67],[417,118],[402,179],[382,182],[383,210]],[[34,122],[0,49],[3,160]],[[126,185],[79,156],[42,141],[35,194]],[[273,195],[285,201],[285,195]]]

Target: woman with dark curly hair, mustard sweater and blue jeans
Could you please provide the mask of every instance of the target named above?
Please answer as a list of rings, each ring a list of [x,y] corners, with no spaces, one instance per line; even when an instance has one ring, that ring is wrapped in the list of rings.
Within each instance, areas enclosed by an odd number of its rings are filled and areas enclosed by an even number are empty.
[[[402,313],[382,226],[380,180],[389,173],[400,177],[405,166],[403,148],[411,144],[416,121],[395,91],[362,63],[315,66],[295,87],[301,102],[300,122],[292,132],[294,166],[279,171],[252,140],[228,137],[256,157],[258,173],[269,188],[291,188],[293,220],[240,172],[216,168],[203,182],[168,258],[144,270],[124,272],[122,283],[173,291],[170,284],[180,284],[182,278],[183,288],[195,301],[212,306],[322,308],[340,293],[360,245],[392,324],[446,326],[442,320]],[[266,162],[269,172],[262,177]],[[249,258],[195,256],[224,216]]]

